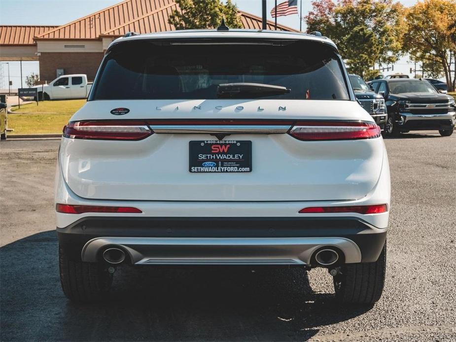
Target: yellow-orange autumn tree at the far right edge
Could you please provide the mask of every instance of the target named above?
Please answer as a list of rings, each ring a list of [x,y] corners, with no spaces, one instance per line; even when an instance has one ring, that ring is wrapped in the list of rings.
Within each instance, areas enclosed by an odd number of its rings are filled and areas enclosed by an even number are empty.
[[[426,65],[438,65],[449,91],[456,86],[456,0],[424,0],[407,13],[404,50]],[[452,70],[453,68],[453,70]]]

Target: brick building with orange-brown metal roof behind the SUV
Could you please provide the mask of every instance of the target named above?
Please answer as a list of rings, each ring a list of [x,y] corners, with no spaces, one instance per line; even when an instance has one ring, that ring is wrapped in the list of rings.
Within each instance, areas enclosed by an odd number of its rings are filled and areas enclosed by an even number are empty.
[[[0,60],[39,61],[41,81],[85,73],[93,80],[109,43],[127,32],[175,30],[168,23],[175,0],[125,0],[61,26],[0,26]],[[245,29],[260,30],[261,18],[239,11]],[[274,29],[268,21],[267,28]],[[295,31],[278,25],[278,30]]]

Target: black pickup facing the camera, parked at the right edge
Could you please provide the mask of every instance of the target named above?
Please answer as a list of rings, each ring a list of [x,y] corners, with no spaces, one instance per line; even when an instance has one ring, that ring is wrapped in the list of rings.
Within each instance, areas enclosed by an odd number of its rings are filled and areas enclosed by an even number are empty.
[[[439,93],[426,80],[379,79],[369,84],[385,99],[388,114],[386,135],[397,136],[422,130],[438,130],[443,137],[453,134],[455,99]]]

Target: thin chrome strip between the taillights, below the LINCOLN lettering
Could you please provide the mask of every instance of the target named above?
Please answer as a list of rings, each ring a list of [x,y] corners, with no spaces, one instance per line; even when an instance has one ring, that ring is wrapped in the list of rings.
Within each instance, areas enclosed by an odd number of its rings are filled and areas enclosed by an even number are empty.
[[[153,125],[150,128],[155,133],[286,133],[291,126],[285,125]]]

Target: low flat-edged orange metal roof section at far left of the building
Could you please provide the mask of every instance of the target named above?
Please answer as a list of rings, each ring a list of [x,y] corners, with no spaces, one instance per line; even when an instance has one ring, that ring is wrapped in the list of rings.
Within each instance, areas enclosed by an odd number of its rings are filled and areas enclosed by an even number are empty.
[[[0,26],[0,45],[33,45],[33,38],[58,26]]]

